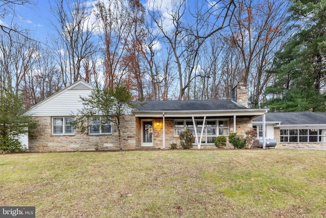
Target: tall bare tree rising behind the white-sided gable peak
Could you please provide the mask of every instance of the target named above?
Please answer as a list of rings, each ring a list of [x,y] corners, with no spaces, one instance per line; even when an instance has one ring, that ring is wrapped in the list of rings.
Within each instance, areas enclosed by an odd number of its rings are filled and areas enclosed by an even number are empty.
[[[53,46],[57,50],[65,86],[85,77],[83,60],[97,52],[96,41],[92,40],[95,31],[92,20],[92,7],[85,0],[56,0],[51,11],[56,17],[52,26],[58,32],[53,37]]]

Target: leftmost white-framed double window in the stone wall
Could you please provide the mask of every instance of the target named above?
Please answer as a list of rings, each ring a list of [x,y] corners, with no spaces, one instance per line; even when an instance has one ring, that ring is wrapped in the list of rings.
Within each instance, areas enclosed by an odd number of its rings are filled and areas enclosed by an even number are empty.
[[[52,134],[53,135],[73,135],[75,133],[71,126],[72,117],[53,117]]]

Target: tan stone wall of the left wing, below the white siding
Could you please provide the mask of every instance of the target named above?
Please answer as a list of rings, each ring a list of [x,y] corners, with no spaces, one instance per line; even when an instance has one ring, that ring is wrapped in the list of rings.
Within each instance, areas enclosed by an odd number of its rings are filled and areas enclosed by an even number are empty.
[[[120,149],[118,129],[112,124],[111,135],[52,135],[51,117],[35,117],[39,126],[31,130],[29,136],[29,151],[31,152],[63,152],[63,151],[95,151]],[[121,137],[123,149],[134,149],[135,117],[126,115],[121,120]]]

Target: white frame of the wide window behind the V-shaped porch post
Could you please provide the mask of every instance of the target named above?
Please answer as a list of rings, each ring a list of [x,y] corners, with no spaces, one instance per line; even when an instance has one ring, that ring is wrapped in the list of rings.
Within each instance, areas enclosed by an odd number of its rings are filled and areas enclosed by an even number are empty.
[[[214,121],[216,126],[215,127],[207,127],[207,122],[209,122],[209,121]],[[228,126],[227,127],[219,127],[219,121],[227,121]],[[203,119],[195,119],[197,132],[198,132],[198,131],[201,131],[202,126],[198,127],[197,122],[203,122]],[[176,123],[179,123],[178,127],[176,127]],[[174,137],[179,137],[178,133],[185,130],[185,129],[193,130],[194,137],[196,137],[195,132],[194,132],[195,129],[194,129],[192,119],[174,119],[173,120],[173,134],[174,134]],[[215,129],[215,135],[207,135],[207,129]],[[229,119],[206,119],[205,127],[204,127],[204,133],[203,133],[201,143],[202,144],[214,144],[214,142],[210,142],[210,143],[208,142],[207,143],[207,138],[208,137],[218,137],[219,133],[220,133],[219,132],[220,129],[227,129],[228,134],[225,135],[225,136],[229,136],[229,133],[230,133],[230,120]],[[199,134],[200,134],[200,132],[199,132]],[[194,138],[194,142],[195,142],[195,138]]]

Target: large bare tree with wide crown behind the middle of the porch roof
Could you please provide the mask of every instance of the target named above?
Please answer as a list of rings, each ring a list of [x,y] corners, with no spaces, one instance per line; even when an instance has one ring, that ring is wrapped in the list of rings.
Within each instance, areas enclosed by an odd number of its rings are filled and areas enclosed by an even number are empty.
[[[162,13],[161,7],[157,2],[153,2],[154,10],[150,16],[162,34],[162,40],[167,42],[173,51],[179,76],[178,99],[181,100],[185,90],[196,78],[194,69],[197,68],[202,44],[214,33],[229,25],[235,5],[233,1],[220,0],[206,4],[197,2],[195,6],[189,6],[185,0],[180,0],[173,1],[169,7],[166,6],[164,10],[167,13]]]

